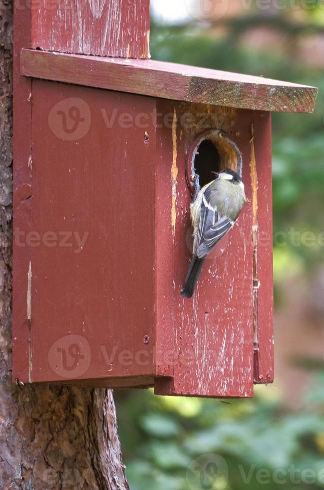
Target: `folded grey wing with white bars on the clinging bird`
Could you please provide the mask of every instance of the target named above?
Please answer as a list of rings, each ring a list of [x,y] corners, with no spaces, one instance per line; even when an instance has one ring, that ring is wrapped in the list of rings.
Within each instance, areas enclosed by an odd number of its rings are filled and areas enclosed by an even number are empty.
[[[215,190],[207,187],[203,194],[200,220],[198,228],[198,246],[196,255],[199,258],[204,257],[213,248],[213,246],[232,228],[234,221],[227,216],[218,215],[218,209],[211,202],[211,194]]]

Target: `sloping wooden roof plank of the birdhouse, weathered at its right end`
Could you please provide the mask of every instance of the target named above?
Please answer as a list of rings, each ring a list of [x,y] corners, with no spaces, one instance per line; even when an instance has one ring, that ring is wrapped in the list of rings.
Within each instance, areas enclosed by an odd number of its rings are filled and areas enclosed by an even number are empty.
[[[312,112],[318,89],[153,60],[23,50],[21,73],[155,97],[280,112]]]

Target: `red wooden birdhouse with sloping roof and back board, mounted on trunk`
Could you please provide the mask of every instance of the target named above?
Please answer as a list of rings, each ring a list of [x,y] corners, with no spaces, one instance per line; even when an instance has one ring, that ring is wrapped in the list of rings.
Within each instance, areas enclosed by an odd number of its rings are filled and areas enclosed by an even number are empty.
[[[271,111],[317,89],[147,59],[148,0],[20,7],[13,378],[252,396],[273,380]],[[248,202],[183,298],[192,175],[226,167]]]

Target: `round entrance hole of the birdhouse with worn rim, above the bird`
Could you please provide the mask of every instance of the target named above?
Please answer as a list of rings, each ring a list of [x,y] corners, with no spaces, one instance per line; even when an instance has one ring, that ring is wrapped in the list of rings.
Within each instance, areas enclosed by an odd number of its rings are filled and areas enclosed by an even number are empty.
[[[231,168],[242,174],[242,154],[237,145],[219,129],[200,133],[187,153],[186,176],[194,194],[194,175],[199,175],[201,187],[215,178],[215,172]]]

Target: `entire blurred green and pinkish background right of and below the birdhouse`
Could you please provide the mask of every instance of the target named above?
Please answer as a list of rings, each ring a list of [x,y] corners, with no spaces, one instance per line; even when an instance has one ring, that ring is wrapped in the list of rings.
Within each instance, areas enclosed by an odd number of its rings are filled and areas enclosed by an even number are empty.
[[[153,59],[320,90],[314,114],[273,114],[275,383],[226,402],[115,391],[130,486],[324,488],[324,1],[151,5]],[[206,454],[228,475],[210,464],[198,480]]]

